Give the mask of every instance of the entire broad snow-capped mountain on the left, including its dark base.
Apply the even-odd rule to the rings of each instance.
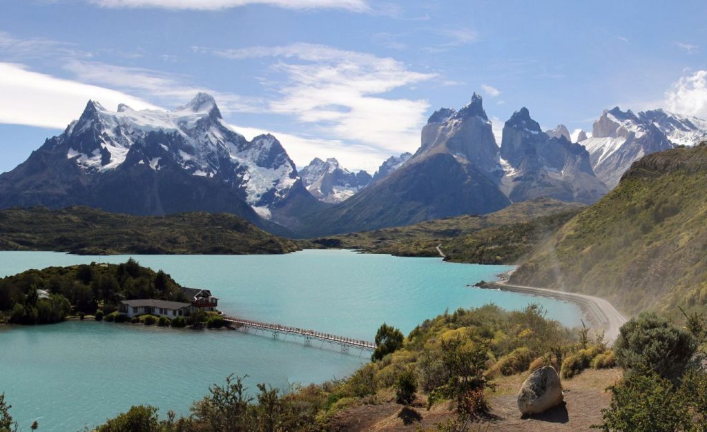
[[[317,202],[274,136],[248,141],[199,93],[173,111],[89,101],[63,134],[0,175],[0,207],[83,204],[130,214],[229,211],[259,223]]]

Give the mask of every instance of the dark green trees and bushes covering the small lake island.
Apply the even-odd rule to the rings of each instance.
[[[38,298],[37,289],[49,298]],[[33,269],[0,279],[0,311],[9,311],[11,322],[18,324],[59,322],[72,310],[95,313],[98,321],[124,322],[127,317],[117,313],[117,305],[134,298],[186,300],[168,274],[141,267],[134,259]]]

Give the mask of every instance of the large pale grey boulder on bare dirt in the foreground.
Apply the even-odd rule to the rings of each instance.
[[[557,371],[552,366],[536,369],[525,380],[518,393],[520,414],[540,414],[561,404],[562,385]]]

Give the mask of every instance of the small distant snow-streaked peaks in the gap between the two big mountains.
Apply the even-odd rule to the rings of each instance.
[[[314,158],[300,170],[300,177],[313,197],[323,202],[339,203],[368,186],[372,177],[366,171],[351,173],[335,158]]]

